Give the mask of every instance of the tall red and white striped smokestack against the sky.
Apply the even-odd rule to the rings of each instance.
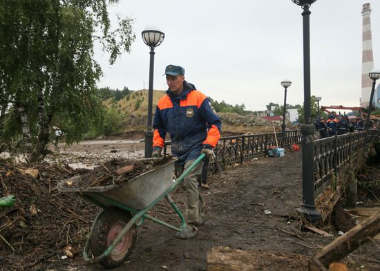
[[[361,102],[360,105],[367,107],[370,102],[372,80],[368,73],[373,69],[372,33],[371,33],[371,7],[370,3],[363,5],[363,45],[361,61]]]

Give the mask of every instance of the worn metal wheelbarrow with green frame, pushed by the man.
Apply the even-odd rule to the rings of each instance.
[[[145,219],[178,232],[184,230],[186,227],[184,216],[171,200],[169,193],[182,183],[203,158],[205,158],[205,154],[201,154],[189,169],[176,179],[173,179],[175,163],[173,158],[167,164],[146,171],[122,185],[75,187],[75,185],[67,186],[68,180],[59,183],[57,185],[59,191],[77,193],[82,198],[102,207],[86,241],[83,251],[84,260],[88,263],[100,263],[106,268],[122,265],[131,255],[137,237],[136,229],[144,223]],[[157,158],[151,160],[157,160]],[[69,180],[75,184],[79,178],[80,176],[75,176]],[[175,227],[146,214],[162,198],[166,198],[180,216],[180,227]]]

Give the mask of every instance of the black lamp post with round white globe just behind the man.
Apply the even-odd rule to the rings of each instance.
[[[158,28],[146,27],[141,32],[142,40],[151,48],[151,58],[149,63],[149,91],[148,91],[148,122],[145,131],[145,158],[151,158],[153,152],[153,131],[152,131],[152,107],[153,107],[153,72],[154,72],[154,48],[162,44],[165,34]]]

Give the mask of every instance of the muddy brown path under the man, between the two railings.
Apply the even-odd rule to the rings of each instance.
[[[314,248],[332,241],[299,232],[300,223],[292,220],[294,208],[301,203],[301,152],[289,153],[285,158],[260,158],[234,167],[222,177],[213,175],[209,183],[211,189],[202,190],[208,206],[207,222],[196,238],[175,239],[172,230],[146,221],[137,230],[131,261],[115,270],[205,270],[207,252],[215,246],[311,255],[316,252]],[[182,189],[171,196],[184,209]],[[265,210],[271,214],[265,214]],[[164,202],[151,214],[179,222]],[[298,234],[307,242],[286,232]],[[271,259],[267,263],[270,265]],[[305,269],[303,264],[301,270]],[[298,261],[283,266],[283,270],[297,268]],[[97,265],[91,270],[102,268]]]

